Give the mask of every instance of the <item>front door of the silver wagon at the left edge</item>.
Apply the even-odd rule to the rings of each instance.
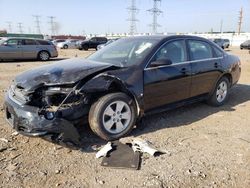
[[[6,45],[0,46],[0,59],[20,59],[22,58],[20,39],[9,39]]]

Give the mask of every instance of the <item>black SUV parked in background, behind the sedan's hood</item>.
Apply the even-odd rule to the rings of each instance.
[[[82,41],[79,44],[78,49],[79,50],[88,50],[90,48],[94,48],[97,50],[98,45],[105,44],[107,41],[108,41],[108,39],[106,37],[93,37],[89,40]]]

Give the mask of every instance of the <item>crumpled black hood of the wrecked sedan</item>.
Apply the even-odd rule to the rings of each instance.
[[[112,64],[74,58],[26,71],[15,78],[15,83],[26,91],[33,91],[43,85],[73,84],[112,66]]]

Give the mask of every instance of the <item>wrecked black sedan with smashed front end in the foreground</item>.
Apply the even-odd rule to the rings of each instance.
[[[114,140],[144,115],[201,100],[223,105],[240,73],[238,57],[204,38],[124,38],[87,59],[18,75],[6,94],[6,119],[29,136],[67,134],[88,120],[94,133]]]

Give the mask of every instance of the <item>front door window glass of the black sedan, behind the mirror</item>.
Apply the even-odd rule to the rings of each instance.
[[[153,61],[169,59],[172,63],[187,61],[186,47],[184,40],[174,41],[164,45],[154,56]]]

